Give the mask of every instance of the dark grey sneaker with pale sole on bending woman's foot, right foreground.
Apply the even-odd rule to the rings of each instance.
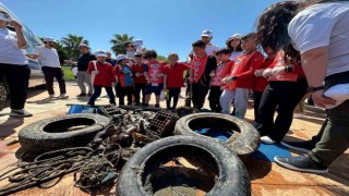
[[[279,166],[294,171],[310,173],[328,173],[327,167],[318,164],[306,155],[300,155],[297,157],[274,157],[274,160]]]

